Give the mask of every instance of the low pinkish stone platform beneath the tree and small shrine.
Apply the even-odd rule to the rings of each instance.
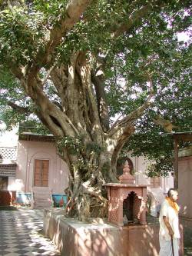
[[[158,224],[118,227],[65,218],[61,209],[45,209],[44,231],[61,255],[157,256]]]

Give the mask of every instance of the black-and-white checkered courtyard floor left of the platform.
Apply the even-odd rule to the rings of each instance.
[[[0,255],[60,255],[42,228],[41,210],[0,211]]]

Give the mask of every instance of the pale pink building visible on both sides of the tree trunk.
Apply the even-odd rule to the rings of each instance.
[[[23,128],[19,136],[17,128],[4,131],[0,137],[0,182],[3,184],[2,188],[0,184],[0,190],[17,191],[23,198],[31,194],[32,207],[36,208],[51,206],[51,194],[65,194],[68,167],[58,157],[53,141],[52,135],[38,135],[31,128]],[[147,193],[151,197],[151,214],[156,216],[164,193],[173,187],[173,177],[147,178],[147,159],[131,157],[131,154],[127,154],[127,159],[134,169],[136,184],[147,185]],[[28,200],[30,198],[25,201]]]

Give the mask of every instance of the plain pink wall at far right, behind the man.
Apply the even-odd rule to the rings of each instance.
[[[192,219],[192,156],[179,158],[178,182],[180,215]]]

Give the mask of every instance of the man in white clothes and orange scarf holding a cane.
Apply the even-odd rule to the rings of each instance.
[[[174,188],[170,188],[170,190],[167,192],[167,197],[161,205],[161,211],[159,216],[159,256],[179,255],[180,232],[178,218],[179,207],[176,203],[177,199],[177,190],[175,190]],[[173,244],[171,240],[173,241]]]

